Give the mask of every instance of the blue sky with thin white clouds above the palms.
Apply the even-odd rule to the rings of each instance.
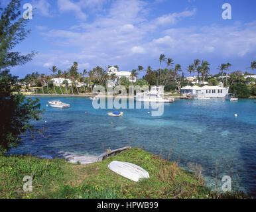
[[[8,2],[0,0],[1,7]],[[180,64],[185,76],[197,58],[210,63],[211,74],[227,62],[231,71],[250,71],[256,60],[254,0],[25,0],[22,12],[25,3],[34,9],[31,33],[13,50],[38,54],[11,68],[21,78],[50,74],[54,65],[64,71],[75,61],[80,72],[109,65],[157,70],[160,54]],[[224,3],[231,5],[231,19],[222,18]]]

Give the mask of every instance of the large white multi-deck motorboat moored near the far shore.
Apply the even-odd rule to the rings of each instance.
[[[159,93],[156,93],[156,92],[138,93],[135,96],[135,98],[136,98],[136,101],[163,102],[163,103],[174,102],[174,98],[164,97],[163,94],[159,94]]]

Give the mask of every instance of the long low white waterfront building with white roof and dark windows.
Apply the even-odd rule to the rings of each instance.
[[[203,87],[199,86],[185,86],[180,89],[180,93],[193,97],[196,95],[204,95],[204,97],[218,98],[225,97],[228,93],[228,87],[220,87],[220,86],[208,86],[204,85]]]

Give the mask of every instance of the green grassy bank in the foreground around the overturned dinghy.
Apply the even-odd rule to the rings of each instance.
[[[112,160],[137,164],[150,178],[136,183],[107,168]],[[24,176],[32,176],[33,189],[23,191]],[[145,152],[131,148],[94,164],[70,164],[62,159],[32,156],[0,156],[1,198],[215,198],[204,180],[191,172]],[[227,193],[219,197],[243,197]]]

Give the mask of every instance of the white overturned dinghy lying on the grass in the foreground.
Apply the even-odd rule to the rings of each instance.
[[[135,182],[139,182],[143,178],[149,178],[149,172],[129,162],[113,160],[107,167],[109,170]]]

